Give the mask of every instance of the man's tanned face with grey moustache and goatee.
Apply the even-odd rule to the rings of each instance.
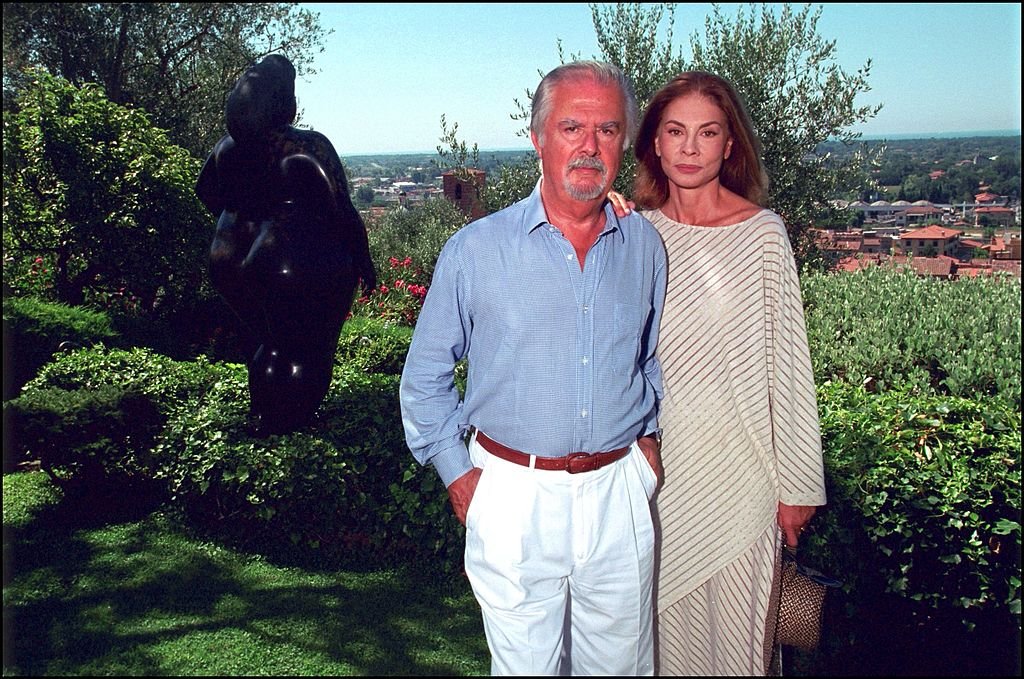
[[[626,107],[614,85],[591,78],[555,86],[542,138],[530,135],[545,179],[556,196],[604,198],[618,174],[626,138]]]

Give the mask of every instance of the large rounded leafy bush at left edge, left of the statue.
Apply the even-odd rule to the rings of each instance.
[[[31,292],[71,305],[195,300],[210,236],[198,165],[100,86],[36,72],[3,114],[4,294],[35,274],[46,285]]]

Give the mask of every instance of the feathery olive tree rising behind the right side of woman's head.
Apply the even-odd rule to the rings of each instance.
[[[866,183],[865,169],[878,155],[863,146],[843,161],[819,145],[829,139],[854,144],[852,126],[873,118],[881,104],[857,105],[870,91],[871,60],[850,74],[836,63],[836,41],[818,35],[821,8],[740,7],[734,18],[715,5],[701,39],[693,34],[688,69],[728,79],[745,99],[764,146],[770,180],[768,206],[790,228],[798,253],[816,219],[834,221],[829,200]]]

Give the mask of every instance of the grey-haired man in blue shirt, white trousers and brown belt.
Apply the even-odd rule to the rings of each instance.
[[[410,449],[466,525],[493,674],[652,674],[666,255],[605,204],[636,121],[611,65],[544,78],[542,179],[445,244],[402,374]]]

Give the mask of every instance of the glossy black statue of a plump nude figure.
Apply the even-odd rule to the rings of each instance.
[[[271,54],[251,67],[196,185],[217,217],[210,279],[258,345],[248,368],[260,435],[311,419],[355,287],[377,285],[341,159],[323,134],[293,127],[295,114],[291,61]]]

